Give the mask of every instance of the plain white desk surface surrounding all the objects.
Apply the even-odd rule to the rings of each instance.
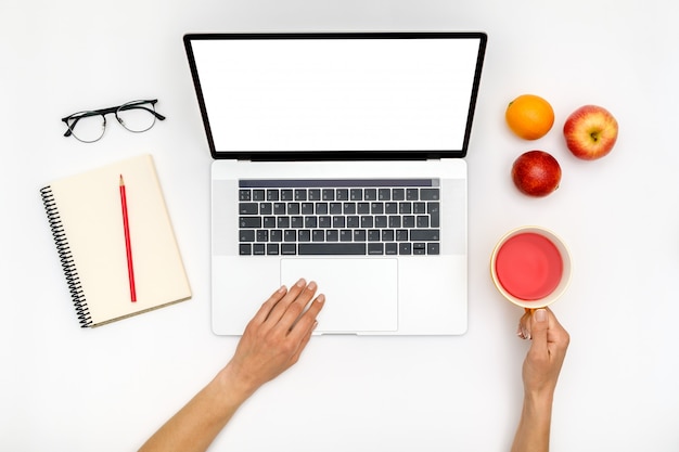
[[[209,328],[208,155],[182,35],[229,30],[485,30],[488,50],[466,158],[470,319],[461,337],[315,337],[257,392],[215,451],[507,451],[521,409],[521,309],[488,274],[509,229],[558,232],[575,261],[554,312],[572,344],[552,451],[679,449],[679,7],[670,1],[249,0],[0,5],[0,449],[129,451],[231,357]],[[514,138],[504,108],[547,98],[543,139]],[[97,144],[60,118],[157,96],[143,134],[112,122]],[[620,124],[602,160],[580,162],[561,127],[594,103]],[[560,160],[562,185],[528,198],[509,171],[524,151]],[[38,190],[151,152],[194,296],[97,330],[76,323]]]

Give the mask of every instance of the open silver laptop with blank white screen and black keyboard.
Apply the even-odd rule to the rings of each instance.
[[[212,164],[212,328],[316,281],[316,334],[467,328],[483,33],[189,34]]]

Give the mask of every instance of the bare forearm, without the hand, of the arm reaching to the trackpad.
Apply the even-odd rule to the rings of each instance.
[[[235,388],[221,371],[146,441],[140,452],[205,451],[252,391]]]

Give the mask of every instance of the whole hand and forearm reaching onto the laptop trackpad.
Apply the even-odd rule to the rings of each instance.
[[[241,404],[261,385],[299,359],[324,296],[304,279],[276,290],[249,321],[235,354],[184,408],[146,441],[140,452],[204,452]],[[308,309],[305,308],[309,305]]]

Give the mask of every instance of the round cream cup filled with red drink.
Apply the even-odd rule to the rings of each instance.
[[[497,289],[526,309],[556,301],[571,282],[571,255],[563,241],[539,227],[522,227],[504,234],[490,258]]]

